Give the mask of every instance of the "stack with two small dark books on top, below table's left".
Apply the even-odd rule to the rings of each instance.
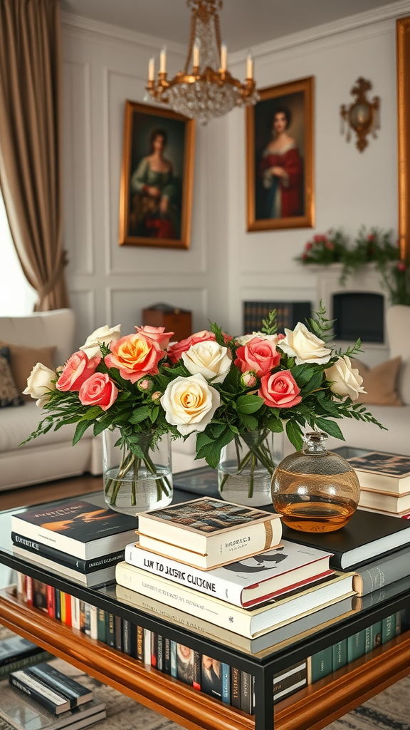
[[[0,695],[0,718],[17,730],[80,730],[107,714],[92,691],[47,662],[12,672]]]

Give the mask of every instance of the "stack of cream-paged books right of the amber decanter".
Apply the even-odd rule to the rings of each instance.
[[[410,456],[371,451],[348,461],[360,483],[360,509],[410,518]]]

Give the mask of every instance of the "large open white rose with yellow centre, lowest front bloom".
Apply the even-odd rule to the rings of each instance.
[[[204,431],[220,405],[220,394],[203,375],[176,377],[160,399],[165,418],[182,436]]]

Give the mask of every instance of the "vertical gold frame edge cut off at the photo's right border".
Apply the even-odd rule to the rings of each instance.
[[[410,16],[396,20],[398,89],[398,235],[410,256]]]

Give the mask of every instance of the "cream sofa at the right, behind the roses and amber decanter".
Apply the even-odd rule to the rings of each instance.
[[[369,404],[367,410],[388,430],[382,431],[373,423],[363,423],[352,418],[338,421],[344,441],[329,438],[329,449],[344,445],[356,448],[387,451],[410,456],[410,307],[390,307],[386,314],[387,337],[390,358],[401,356],[401,372],[398,377],[398,396],[403,406],[376,406]],[[360,356],[359,356],[360,357]],[[285,455],[294,451],[285,437]],[[172,464],[174,472],[204,466],[204,460],[195,461],[195,436],[187,441],[174,442]]]

